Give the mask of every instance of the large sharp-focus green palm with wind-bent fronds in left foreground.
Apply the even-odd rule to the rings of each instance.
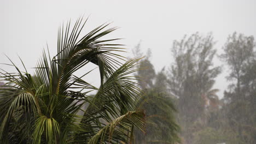
[[[69,21],[59,29],[57,55],[44,51],[33,75],[22,61],[25,72],[11,60],[17,72],[1,72],[7,82],[0,87],[2,143],[128,143],[135,127],[144,131],[145,114],[134,105],[140,90],[130,76],[139,59],[120,62],[117,39],[100,40],[116,29],[104,30],[108,25],[78,40],[86,21],[78,19],[73,28]],[[82,79],[88,73],[74,75],[89,63],[98,65],[99,88]]]

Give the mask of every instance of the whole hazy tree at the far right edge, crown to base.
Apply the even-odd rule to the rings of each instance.
[[[234,32],[223,47],[220,56],[230,69],[227,77],[232,89],[224,93],[228,124],[236,137],[244,143],[255,143],[255,72],[256,50],[253,36]],[[235,80],[235,81],[234,81]]]

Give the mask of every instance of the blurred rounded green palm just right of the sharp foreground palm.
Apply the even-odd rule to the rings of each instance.
[[[181,143],[171,95],[156,87],[143,90],[144,94],[137,101],[137,107],[146,110],[147,135],[143,136],[136,131],[137,143]]]

